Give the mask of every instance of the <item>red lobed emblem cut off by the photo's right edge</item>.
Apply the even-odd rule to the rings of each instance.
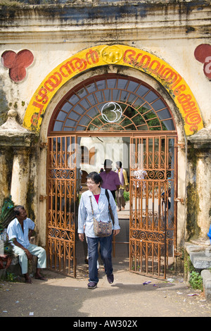
[[[204,63],[204,73],[209,80],[211,80],[211,45],[210,44],[200,44],[196,47],[194,51],[194,56],[196,60]]]

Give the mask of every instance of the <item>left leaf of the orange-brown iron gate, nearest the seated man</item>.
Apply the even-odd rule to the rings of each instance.
[[[47,187],[48,268],[76,276],[76,155],[75,136],[49,137]]]

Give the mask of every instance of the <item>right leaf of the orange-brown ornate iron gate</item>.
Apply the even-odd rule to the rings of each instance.
[[[174,263],[176,144],[175,136],[131,138],[129,268],[135,273],[165,278]]]

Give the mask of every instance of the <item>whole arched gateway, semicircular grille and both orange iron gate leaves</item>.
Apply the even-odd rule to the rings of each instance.
[[[177,132],[160,94],[133,77],[92,77],[60,101],[48,139],[49,268],[76,276],[79,194],[86,174],[110,158],[113,170],[122,162],[129,180],[129,213],[119,213],[125,236],[115,238],[115,258],[126,247],[131,272],[165,278],[177,244]]]

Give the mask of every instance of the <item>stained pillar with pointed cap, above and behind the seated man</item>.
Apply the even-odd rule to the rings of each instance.
[[[8,111],[6,123],[0,127],[0,150],[12,151],[7,160],[9,165],[9,175],[4,173],[6,168],[6,154],[0,155],[0,166],[3,171],[0,175],[2,199],[8,196],[8,187],[11,185],[11,196],[15,204],[26,204],[27,184],[30,176],[30,148],[34,134],[26,130],[17,122],[17,112],[11,109]],[[14,155],[13,155],[14,154]],[[13,162],[13,165],[12,165]],[[8,167],[8,165],[7,165]]]

